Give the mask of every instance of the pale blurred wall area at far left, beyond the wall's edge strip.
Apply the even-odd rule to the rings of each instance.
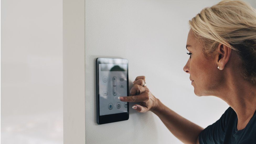
[[[1,143],[63,143],[62,1],[1,0]]]

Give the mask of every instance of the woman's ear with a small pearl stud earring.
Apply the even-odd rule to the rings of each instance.
[[[216,50],[216,64],[219,67],[220,70],[223,70],[226,63],[228,62],[231,54],[231,48],[224,45],[224,44],[218,44],[217,50]]]

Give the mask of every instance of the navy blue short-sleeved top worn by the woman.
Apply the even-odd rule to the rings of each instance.
[[[219,120],[200,132],[199,143],[256,144],[256,110],[246,127],[237,130],[236,112],[229,107]]]

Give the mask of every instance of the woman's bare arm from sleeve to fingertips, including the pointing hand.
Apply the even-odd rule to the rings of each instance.
[[[141,102],[141,105],[132,106],[137,112],[145,113],[152,111],[164,123],[164,125],[184,143],[199,143],[198,136],[203,130],[202,127],[183,118],[154,97],[145,84],[145,76],[136,77],[133,87],[130,90],[132,96],[118,97],[123,102]]]

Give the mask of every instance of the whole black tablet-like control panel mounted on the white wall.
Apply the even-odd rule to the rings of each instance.
[[[97,122],[129,119],[129,103],[118,99],[129,96],[128,60],[121,58],[97,59]]]

